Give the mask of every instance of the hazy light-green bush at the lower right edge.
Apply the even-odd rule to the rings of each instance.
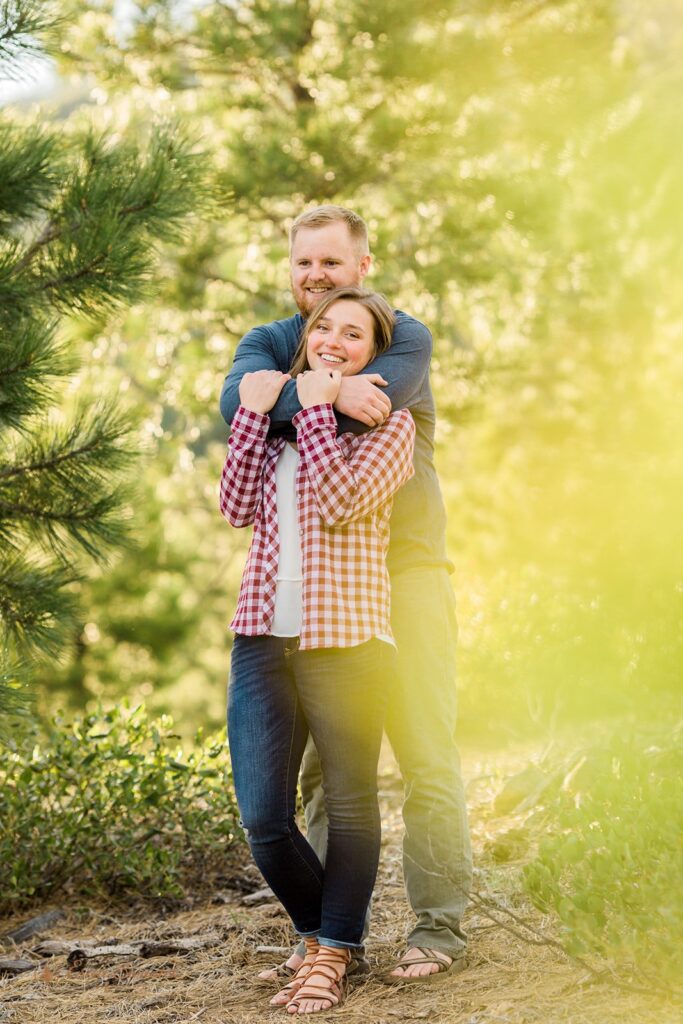
[[[566,948],[651,978],[683,977],[680,733],[622,736],[587,753],[548,811],[550,831],[523,880],[535,903],[559,915]]]

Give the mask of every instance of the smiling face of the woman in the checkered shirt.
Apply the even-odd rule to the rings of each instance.
[[[306,358],[311,370],[357,374],[375,352],[373,314],[353,299],[333,303],[308,335]]]

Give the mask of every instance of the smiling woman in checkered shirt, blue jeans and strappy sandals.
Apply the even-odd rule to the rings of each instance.
[[[244,827],[266,882],[306,944],[271,1002],[290,1013],[338,1005],[359,948],[377,873],[377,762],[388,662],[384,564],[391,502],[412,475],[415,427],[392,414],[337,437],[341,378],[391,341],[381,296],[330,292],[311,313],[290,374],[246,374],[223,468],[220,507],[254,524],[242,580],[228,699],[232,772]],[[268,411],[296,377],[295,446],[268,439]],[[310,731],[323,768],[329,842],[323,868],[295,822]]]

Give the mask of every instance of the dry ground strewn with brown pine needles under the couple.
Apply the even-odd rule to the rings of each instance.
[[[515,864],[497,866],[487,850],[509,825],[492,814],[492,796],[501,779],[523,764],[508,756],[496,760],[467,757],[469,800],[479,890],[494,892],[550,935],[552,923],[525,904],[516,892]],[[465,927],[470,938],[468,969],[438,986],[396,989],[377,974],[391,965],[410,929],[400,873],[399,785],[388,765],[382,773],[384,846],[376,890],[369,955],[376,970],[370,981],[352,989],[338,1010],[321,1021],[393,1024],[430,1020],[443,1024],[675,1024],[680,1020],[665,1000],[592,984],[586,972],[552,949],[528,945],[493,926],[476,909]],[[236,892],[230,903],[210,900],[172,916],[141,921],[116,911],[102,918],[74,911],[49,938],[119,942],[177,938],[216,931],[219,944],[184,956],[105,957],[70,971],[66,957],[44,962],[37,971],[0,981],[2,1024],[256,1024],[289,1019],[267,1005],[273,990],[255,980],[272,954],[257,946],[287,946],[291,932],[275,903],[246,907]],[[9,927],[9,924],[7,925]],[[5,930],[3,925],[2,931]],[[43,936],[46,938],[48,936]],[[16,955],[31,955],[30,940]],[[5,953],[6,955],[6,953]],[[274,957],[275,959],[278,957]]]

